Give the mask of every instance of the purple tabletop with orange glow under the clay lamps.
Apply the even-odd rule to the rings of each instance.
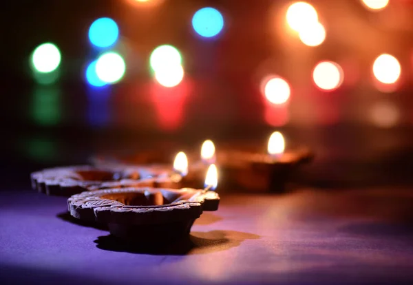
[[[413,284],[412,206],[394,189],[224,196],[187,253],[131,251],[67,220],[65,198],[7,191],[0,283]]]

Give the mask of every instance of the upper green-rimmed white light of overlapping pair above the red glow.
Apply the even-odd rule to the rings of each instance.
[[[179,66],[182,64],[182,56],[176,47],[160,45],[151,53],[149,64],[155,71],[165,67]]]

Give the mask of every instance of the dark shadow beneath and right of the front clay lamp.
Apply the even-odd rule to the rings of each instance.
[[[105,251],[120,251],[127,253],[141,253],[152,255],[192,255],[225,251],[239,246],[244,240],[255,240],[260,235],[242,233],[240,231],[209,231],[192,232],[187,238],[178,242],[167,243],[164,241],[134,243],[120,240],[114,235],[98,237],[94,242],[98,249]]]

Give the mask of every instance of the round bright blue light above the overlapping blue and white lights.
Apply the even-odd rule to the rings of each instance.
[[[96,47],[110,47],[118,40],[119,28],[110,18],[97,19],[90,25],[89,41]]]

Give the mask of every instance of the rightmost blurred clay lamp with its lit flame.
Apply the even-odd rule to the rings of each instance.
[[[285,149],[284,137],[275,131],[268,140],[268,153],[226,151],[217,153],[222,180],[230,187],[256,191],[284,192],[291,173],[310,162],[313,154],[306,147]]]

